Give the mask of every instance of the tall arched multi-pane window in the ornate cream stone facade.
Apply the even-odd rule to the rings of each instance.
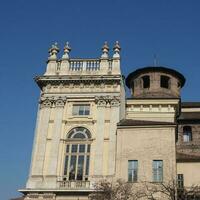
[[[84,127],[68,133],[65,151],[64,180],[88,180],[91,134]]]

